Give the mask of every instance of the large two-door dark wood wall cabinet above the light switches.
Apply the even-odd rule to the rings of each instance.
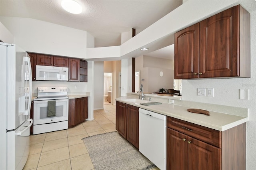
[[[250,77],[250,14],[234,6],[177,32],[174,79]]]

